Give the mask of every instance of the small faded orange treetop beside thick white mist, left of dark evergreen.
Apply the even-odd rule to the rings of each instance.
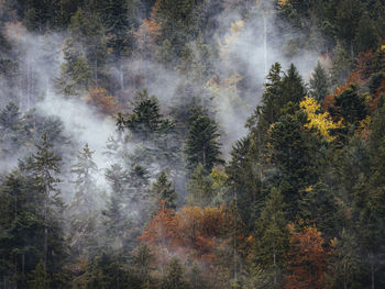
[[[91,88],[85,99],[103,114],[112,114],[118,110],[117,101],[103,88]]]

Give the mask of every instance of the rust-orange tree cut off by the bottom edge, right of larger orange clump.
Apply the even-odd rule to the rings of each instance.
[[[324,274],[329,252],[316,227],[305,227],[296,233],[292,226],[290,251],[288,254],[289,275],[286,289],[326,288]]]

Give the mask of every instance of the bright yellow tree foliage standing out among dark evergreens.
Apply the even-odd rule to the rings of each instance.
[[[336,138],[329,134],[329,131],[342,127],[342,120],[334,123],[329,112],[320,112],[320,104],[311,97],[306,97],[305,100],[299,103],[299,107],[307,112],[309,121],[309,123],[305,125],[307,129],[316,129],[328,142]]]

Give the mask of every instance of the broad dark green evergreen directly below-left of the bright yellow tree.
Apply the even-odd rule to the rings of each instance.
[[[289,220],[298,213],[299,192],[317,180],[318,138],[301,126],[300,114],[286,114],[274,123],[268,136],[268,157],[277,169],[272,171],[271,181],[284,194]]]

